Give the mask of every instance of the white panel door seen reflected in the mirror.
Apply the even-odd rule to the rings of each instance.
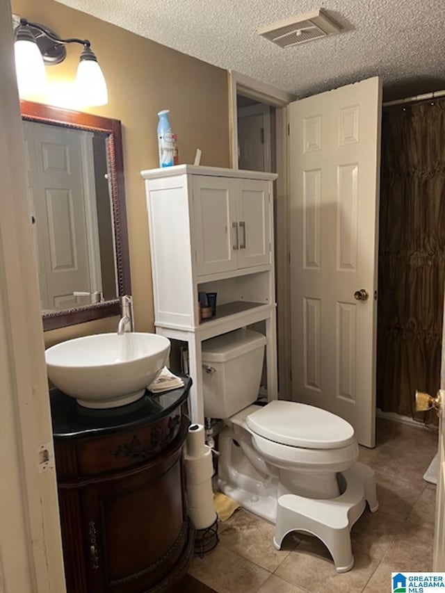
[[[29,181],[38,236],[41,296],[46,300],[42,307],[72,307],[79,303],[74,291],[92,292],[81,133],[30,122],[24,122],[24,129],[29,143],[32,138],[35,157],[30,162]]]

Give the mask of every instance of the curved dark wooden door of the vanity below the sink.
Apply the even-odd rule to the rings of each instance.
[[[177,568],[188,538],[181,479],[175,455],[156,470],[83,490],[91,592],[145,592]]]

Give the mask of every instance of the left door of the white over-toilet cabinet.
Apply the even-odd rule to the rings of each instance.
[[[198,276],[236,270],[239,250],[234,179],[193,177]]]

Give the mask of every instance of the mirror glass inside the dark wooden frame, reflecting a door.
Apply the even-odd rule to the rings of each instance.
[[[23,125],[42,311],[89,304],[94,293],[115,298],[104,135]]]

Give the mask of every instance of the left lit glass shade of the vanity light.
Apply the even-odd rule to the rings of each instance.
[[[20,99],[42,95],[46,88],[47,73],[37,44],[30,40],[17,40],[14,52]]]

